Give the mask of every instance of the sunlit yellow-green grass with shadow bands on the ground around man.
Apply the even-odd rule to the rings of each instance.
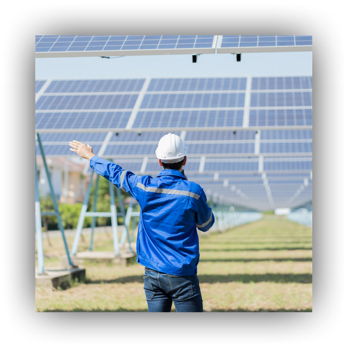
[[[44,240],[45,265],[59,266],[62,241],[51,242]],[[79,250],[88,245],[85,236]],[[95,246],[112,250],[111,235],[96,233]],[[66,290],[35,289],[35,311],[148,311],[143,266],[86,263],[85,268],[85,283]],[[312,229],[265,215],[226,232],[202,233],[198,277],[205,312],[312,312]]]

